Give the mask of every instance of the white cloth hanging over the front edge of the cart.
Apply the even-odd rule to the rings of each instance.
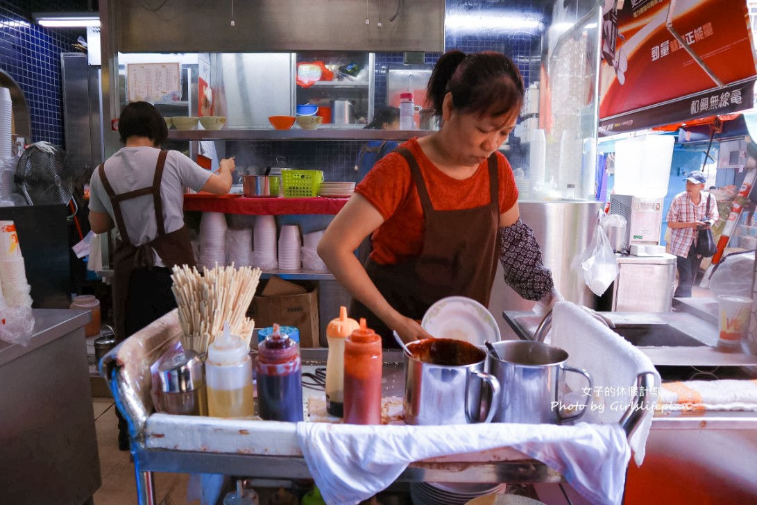
[[[350,505],[387,488],[410,463],[512,447],[561,472],[592,503],[621,503],[631,451],[617,424],[359,426],[298,422],[310,474],[326,503]]]

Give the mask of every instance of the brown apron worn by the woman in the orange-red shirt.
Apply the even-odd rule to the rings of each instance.
[[[421,320],[428,307],[447,296],[466,296],[488,306],[500,248],[496,153],[488,160],[490,204],[434,210],[413,154],[407,148],[395,152],[407,160],[418,190],[425,223],[422,251],[418,257],[391,265],[369,258],[365,264],[369,278],[391,307],[414,320]],[[396,347],[391,329],[360,301],[353,299],[350,317],[365,317],[368,327],[382,335],[386,347]]]

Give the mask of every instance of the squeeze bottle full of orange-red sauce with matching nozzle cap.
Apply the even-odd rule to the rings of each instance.
[[[381,337],[360,318],[344,339],[344,422],[381,424]]]

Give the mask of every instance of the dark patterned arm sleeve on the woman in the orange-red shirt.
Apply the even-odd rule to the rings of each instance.
[[[500,228],[500,263],[507,285],[526,300],[540,300],[554,287],[534,232],[520,218],[512,226]]]

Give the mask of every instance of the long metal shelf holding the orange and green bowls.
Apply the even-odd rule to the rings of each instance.
[[[422,137],[430,130],[364,129],[321,126],[319,129],[273,129],[273,126],[228,126],[223,129],[170,129],[173,140],[407,140]]]

